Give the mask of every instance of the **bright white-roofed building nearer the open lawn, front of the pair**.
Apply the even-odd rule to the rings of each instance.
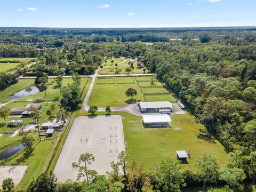
[[[165,127],[165,126],[171,126],[171,118],[167,114],[161,114],[161,115],[142,115],[142,122],[143,124],[147,126],[153,126],[153,127]]]

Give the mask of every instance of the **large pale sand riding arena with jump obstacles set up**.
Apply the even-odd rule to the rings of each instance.
[[[79,116],[74,119],[53,172],[60,182],[76,180],[78,172],[73,170],[72,163],[78,162],[81,154],[90,153],[95,160],[89,169],[106,174],[111,171],[110,163],[117,162],[117,155],[123,150],[121,116]]]

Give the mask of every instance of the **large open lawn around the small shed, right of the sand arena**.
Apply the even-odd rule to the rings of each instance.
[[[148,171],[163,159],[176,159],[177,150],[188,152],[190,149],[191,159],[188,158],[187,164],[182,164],[184,169],[195,171],[195,160],[203,153],[217,157],[223,169],[227,163],[227,154],[218,140],[206,135],[204,127],[196,124],[195,118],[189,114],[173,115],[171,119],[171,128],[145,129],[141,116],[124,114],[124,136],[130,164],[133,159],[137,159],[143,163],[143,170]]]

